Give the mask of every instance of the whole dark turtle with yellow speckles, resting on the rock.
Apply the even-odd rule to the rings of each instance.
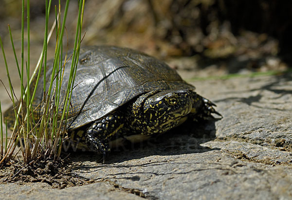
[[[68,60],[64,68],[60,102],[65,98],[71,63],[72,59]],[[52,69],[52,65],[47,69],[46,88]],[[43,94],[43,86],[38,84],[32,102],[36,118],[40,117]],[[77,149],[102,154],[103,162],[113,141],[146,140],[187,118],[198,121],[213,119],[213,113],[221,116],[214,103],[197,94],[195,87],[166,63],[116,46],[80,49],[70,105],[67,139]]]

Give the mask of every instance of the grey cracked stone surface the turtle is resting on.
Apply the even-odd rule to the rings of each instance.
[[[183,76],[183,71],[180,72]],[[291,199],[292,73],[189,81],[223,119],[184,124],[105,164],[71,157],[82,186],[2,183],[4,199]]]

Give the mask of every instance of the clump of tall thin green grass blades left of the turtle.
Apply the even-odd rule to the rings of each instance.
[[[31,77],[30,74],[30,2],[27,0],[27,58],[24,55],[24,11],[25,4],[22,0],[22,21],[21,21],[21,64],[18,64],[17,54],[14,48],[13,37],[10,26],[8,25],[9,34],[11,38],[11,44],[16,59],[16,66],[20,78],[21,96],[19,101],[17,100],[13,86],[11,83],[9,68],[6,62],[6,56],[3,49],[3,44],[0,37],[0,46],[2,49],[7,78],[9,82],[10,92],[7,91],[13,104],[13,111],[15,116],[15,123],[11,137],[7,137],[7,119],[4,124],[6,126],[6,133],[3,135],[3,119],[0,102],[0,166],[9,162],[15,155],[15,149],[17,144],[20,145],[20,150],[23,155],[24,164],[31,164],[37,160],[60,158],[61,146],[64,137],[64,131],[66,129],[66,121],[68,117],[69,105],[71,100],[71,94],[74,87],[74,79],[77,67],[77,61],[79,57],[79,50],[81,45],[81,30],[85,0],[79,1],[78,20],[76,24],[75,42],[73,48],[73,55],[68,55],[63,52],[63,36],[65,32],[65,22],[67,18],[67,12],[69,7],[69,0],[66,0],[63,20],[61,21],[61,5],[59,0],[58,9],[55,6],[55,23],[48,33],[49,14],[51,9],[52,0],[46,1],[46,16],[45,16],[45,31],[43,50],[40,58],[37,62],[37,66]],[[58,10],[58,11],[57,11]],[[54,28],[55,27],[55,28]],[[48,42],[52,35],[52,31],[55,30],[55,55],[52,67],[51,77],[46,77],[47,72],[47,48]],[[62,71],[65,67],[67,57],[72,57],[71,73],[66,91],[66,96],[60,98],[60,89],[62,86],[63,74]],[[24,62],[25,61],[25,62]],[[43,83],[39,83],[41,75],[43,75]],[[24,75],[26,75],[27,86],[24,87]],[[47,82],[49,87],[47,88]],[[33,106],[34,99],[37,94],[38,84],[43,84],[43,100],[37,107]],[[62,86],[64,87],[64,86]],[[64,102],[60,102],[60,99],[65,99]],[[36,114],[36,110],[41,110],[41,115]],[[62,111],[61,116],[58,114]],[[8,110],[9,112],[9,110]],[[12,117],[11,113],[8,117]],[[9,119],[11,120],[11,119]],[[6,136],[5,136],[6,135]],[[7,140],[8,139],[8,140]],[[4,143],[5,140],[5,143]],[[5,147],[4,147],[5,146]]]

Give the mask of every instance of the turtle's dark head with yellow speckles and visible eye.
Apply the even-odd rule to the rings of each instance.
[[[166,90],[148,96],[141,110],[143,133],[166,132],[177,126],[191,109],[192,92],[189,90]]]

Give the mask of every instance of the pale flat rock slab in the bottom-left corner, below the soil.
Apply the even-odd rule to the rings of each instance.
[[[117,190],[112,184],[107,182],[96,182],[82,187],[69,187],[62,190],[49,189],[46,183],[23,184],[17,183],[1,184],[0,185],[1,199],[58,199],[58,200],[140,200],[134,194]]]

